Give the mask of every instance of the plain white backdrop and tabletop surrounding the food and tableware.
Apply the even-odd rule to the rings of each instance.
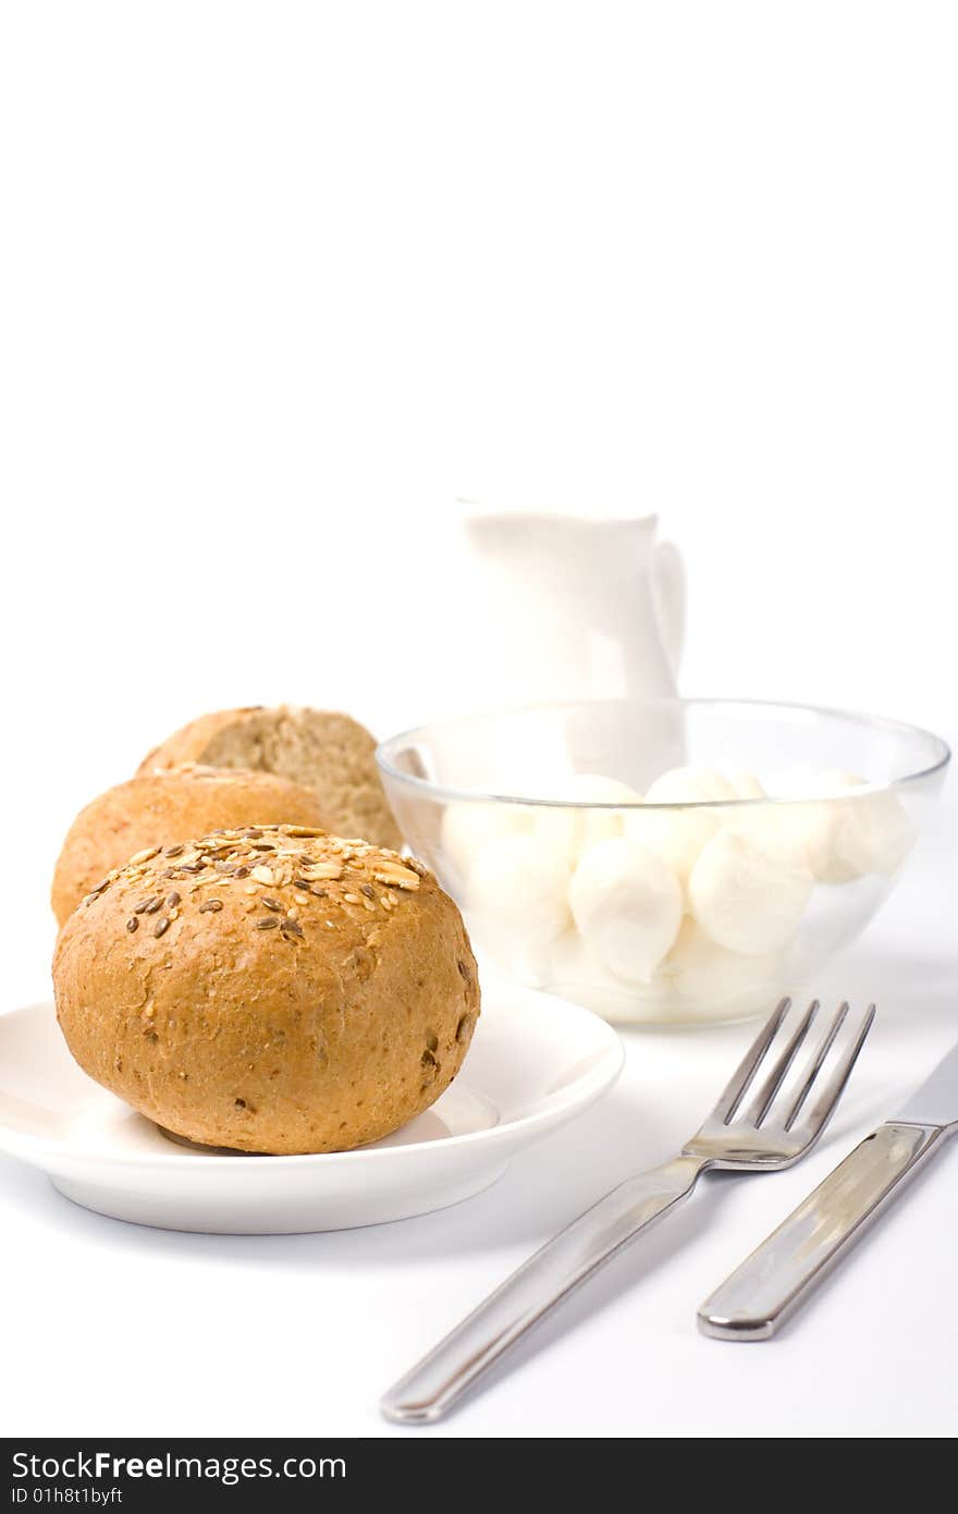
[[[955,736],[956,44],[920,0],[3,8],[5,1001],[45,992],[74,812],[171,727],[288,698],[386,733],[468,678],[457,494],[658,510],[684,692]],[[953,816],[835,969],[890,1007],[831,1143],[702,1201],[678,1261],[663,1229],[451,1434],[944,1428],[953,1155],[773,1349],[692,1311],[947,1046]],[[492,1193],[380,1232],[151,1234],[3,1163],[0,1422],[377,1434],[740,1040],[637,1040]]]

